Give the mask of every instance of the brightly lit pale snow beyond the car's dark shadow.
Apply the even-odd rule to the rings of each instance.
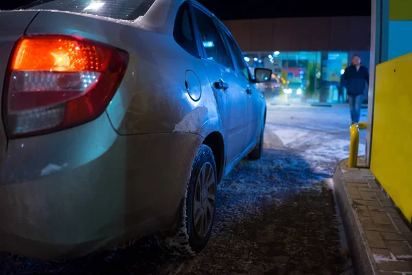
[[[367,110],[362,109],[361,122]],[[348,157],[350,115],[347,108],[270,107],[265,145],[299,153],[317,172],[331,173],[330,165]],[[359,155],[365,155],[366,131],[360,132]]]

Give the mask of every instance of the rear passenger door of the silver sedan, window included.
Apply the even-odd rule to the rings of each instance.
[[[203,47],[203,64],[209,75],[227,140],[227,165],[244,151],[247,125],[247,94],[239,85],[227,46],[207,10],[194,3],[196,28]]]

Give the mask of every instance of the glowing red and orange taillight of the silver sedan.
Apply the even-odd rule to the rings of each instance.
[[[17,43],[5,93],[10,137],[58,131],[98,118],[122,81],[128,54],[71,36]]]

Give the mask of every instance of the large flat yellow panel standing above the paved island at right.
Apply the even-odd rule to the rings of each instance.
[[[411,222],[412,54],[376,67],[371,170]]]

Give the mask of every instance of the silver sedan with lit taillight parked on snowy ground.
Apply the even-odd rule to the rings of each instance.
[[[35,1],[0,12],[0,49],[0,251],[205,248],[216,185],[262,156],[271,70],[187,0]]]

